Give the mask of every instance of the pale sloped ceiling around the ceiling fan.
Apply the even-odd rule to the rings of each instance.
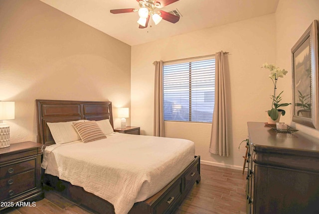
[[[139,29],[137,12],[112,14],[110,9],[139,8],[137,0],[41,0],[129,45],[274,13],[279,0],[179,0],[162,8],[178,9],[175,24],[162,20]]]

